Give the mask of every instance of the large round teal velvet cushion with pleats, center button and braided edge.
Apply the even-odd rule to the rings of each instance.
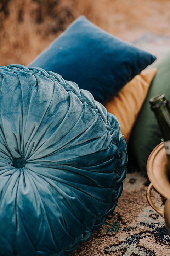
[[[62,256],[113,213],[127,153],[117,119],[60,75],[0,67],[0,255]]]

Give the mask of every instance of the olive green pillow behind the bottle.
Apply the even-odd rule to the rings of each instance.
[[[129,154],[135,158],[141,171],[146,172],[149,154],[161,142],[161,135],[157,121],[150,110],[149,99],[153,96],[165,94],[170,101],[170,51],[159,59],[152,67],[158,69],[145,102],[132,129],[128,143]]]

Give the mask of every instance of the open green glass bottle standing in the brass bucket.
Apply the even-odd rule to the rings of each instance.
[[[151,110],[154,112],[160,129],[162,140],[168,157],[168,178],[170,181],[170,108],[165,95],[159,95],[150,99]]]

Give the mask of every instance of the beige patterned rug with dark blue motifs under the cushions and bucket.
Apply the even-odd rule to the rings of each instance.
[[[170,50],[170,37],[146,34],[132,42],[136,47],[161,58]],[[128,168],[129,169],[129,168]],[[83,242],[70,256],[169,256],[170,235],[164,219],[148,204],[148,178],[140,172],[129,173],[114,213],[100,230]],[[130,173],[131,172],[131,173]],[[156,206],[164,208],[165,198],[154,189]]]

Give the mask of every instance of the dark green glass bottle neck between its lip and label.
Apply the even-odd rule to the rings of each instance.
[[[152,108],[164,141],[170,140],[170,108],[167,104]]]

